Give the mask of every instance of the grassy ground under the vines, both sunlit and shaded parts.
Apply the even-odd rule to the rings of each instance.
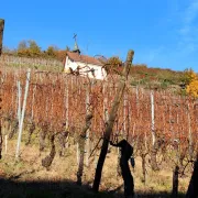
[[[24,135],[25,136],[25,135]],[[85,166],[82,186],[76,185],[76,145],[70,145],[64,157],[55,156],[50,170],[41,166],[41,161],[48,154],[46,147],[43,153],[38,152],[37,136],[31,145],[25,145],[23,139],[20,160],[14,160],[15,140],[8,141],[8,153],[2,153],[0,161],[0,197],[123,197],[123,180],[117,175],[117,151],[111,148],[108,153],[100,193],[90,190],[95,164]],[[91,158],[92,160],[92,158]],[[163,165],[162,170],[154,173],[147,167],[146,183],[142,182],[141,160],[135,161],[135,168],[131,169],[134,177],[135,193],[138,197],[169,197],[172,190],[172,169]],[[189,183],[189,176],[179,179],[179,197],[184,197]]]

